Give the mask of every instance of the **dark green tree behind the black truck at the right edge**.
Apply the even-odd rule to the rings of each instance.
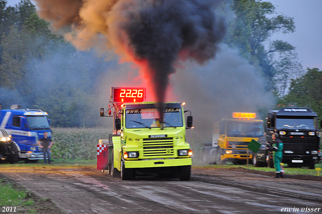
[[[285,105],[308,107],[322,114],[322,71],[307,68],[307,73],[292,80],[289,93],[282,100]]]

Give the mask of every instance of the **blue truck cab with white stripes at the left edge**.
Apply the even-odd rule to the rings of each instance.
[[[20,160],[36,163],[43,159],[38,140],[45,131],[51,137],[47,116],[42,110],[22,109],[22,105],[12,105],[11,109],[0,111],[0,127],[6,129],[17,143]]]

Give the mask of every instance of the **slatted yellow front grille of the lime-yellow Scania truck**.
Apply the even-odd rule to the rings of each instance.
[[[173,156],[173,138],[143,138],[143,156]]]

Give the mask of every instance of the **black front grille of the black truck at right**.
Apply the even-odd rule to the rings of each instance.
[[[307,155],[306,152],[317,151],[315,138],[281,138],[283,141],[283,151],[292,151],[296,155]]]

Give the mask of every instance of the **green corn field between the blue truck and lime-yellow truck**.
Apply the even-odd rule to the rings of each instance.
[[[108,139],[112,133],[110,128],[52,128],[51,139],[53,159],[85,159],[97,158],[99,139]]]

